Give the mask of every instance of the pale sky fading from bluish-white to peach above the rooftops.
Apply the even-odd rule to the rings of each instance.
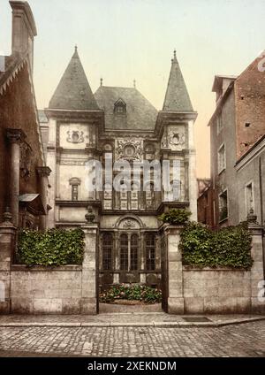
[[[163,106],[177,50],[195,123],[197,175],[209,175],[208,119],[215,74],[239,74],[265,49],[265,0],[28,0],[34,40],[34,88],[47,107],[78,45],[92,90],[133,87]],[[0,55],[11,53],[11,7],[0,0]]]

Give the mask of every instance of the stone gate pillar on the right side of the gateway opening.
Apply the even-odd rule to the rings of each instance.
[[[169,314],[184,313],[183,295],[183,272],[182,255],[179,249],[181,226],[164,226],[164,235],[167,255],[165,256],[166,267],[163,272],[167,272],[163,280],[168,283],[167,312]]]

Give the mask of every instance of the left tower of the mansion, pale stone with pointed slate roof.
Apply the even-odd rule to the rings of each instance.
[[[47,165],[49,227],[67,226],[77,217],[86,222],[87,206],[100,206],[99,196],[86,188],[86,163],[99,158],[98,134],[104,123],[79,59],[77,47],[45,109],[49,119]],[[64,223],[64,224],[62,224]]]

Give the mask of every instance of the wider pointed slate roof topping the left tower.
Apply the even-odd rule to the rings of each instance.
[[[77,48],[75,48],[72,59],[49,101],[49,108],[83,111],[99,109],[80,62]]]

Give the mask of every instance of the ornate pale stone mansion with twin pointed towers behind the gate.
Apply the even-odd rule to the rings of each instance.
[[[106,87],[101,81],[93,95],[76,48],[45,114],[49,135],[44,149],[52,170],[49,227],[81,226],[89,207],[100,223],[100,284],[131,281],[159,285],[161,239],[157,216],[170,207],[187,207],[193,219],[197,218],[193,145],[197,113],[176,53],[171,60],[163,111],[156,111],[137,88]],[[45,134],[43,116],[42,129]],[[178,178],[174,179],[171,166],[170,184],[178,196],[172,200],[170,193],[155,191],[154,172],[148,180],[150,188],[144,191],[140,169],[140,186],[122,181],[121,187],[129,191],[117,192],[105,180],[103,191],[88,191],[87,181],[95,176],[93,168],[89,171],[86,167],[87,160],[101,161],[104,167],[109,160],[112,167],[111,158],[113,163],[127,161],[130,165],[143,160],[177,160]]]

